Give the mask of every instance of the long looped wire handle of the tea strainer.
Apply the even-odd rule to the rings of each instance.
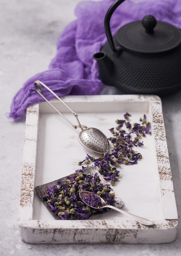
[[[71,124],[74,128],[81,128],[83,130],[83,128],[86,128],[86,126],[82,126],[78,120],[78,115],[76,114],[76,112],[74,112],[62,99],[60,99],[58,97],[58,95],[56,95],[55,92],[53,92],[47,85],[45,85],[44,83],[42,83],[41,81],[39,80],[36,80],[34,82],[34,87],[36,89],[36,91],[38,92],[38,94],[60,115],[62,116],[69,124]],[[74,117],[76,117],[76,120],[78,122],[78,126],[74,125],[71,123],[71,121],[69,121],[69,119],[67,119],[67,117],[65,117],[62,113],[60,113],[60,111],[58,109],[56,109],[50,102],[49,100],[47,100],[47,98],[42,94],[43,93],[43,87],[45,87],[47,90],[49,90],[49,92],[51,92],[55,97],[56,99],[58,99],[61,103],[63,103],[65,105],[65,107],[67,107],[73,114],[74,114]]]

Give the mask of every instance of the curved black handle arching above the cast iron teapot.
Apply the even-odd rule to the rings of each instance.
[[[105,15],[105,19],[104,19],[104,28],[105,28],[105,34],[107,36],[107,40],[109,42],[109,45],[112,49],[113,52],[116,52],[116,48],[114,46],[114,42],[113,42],[113,37],[111,34],[111,29],[110,29],[110,19],[112,14],[114,13],[114,11],[116,10],[116,8],[125,0],[116,0],[111,7],[109,7],[106,15]]]

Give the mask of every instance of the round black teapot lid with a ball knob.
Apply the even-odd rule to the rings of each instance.
[[[181,31],[169,23],[156,21],[154,16],[147,15],[142,21],[131,22],[121,27],[116,39],[125,49],[138,53],[158,54],[177,47],[181,43]]]

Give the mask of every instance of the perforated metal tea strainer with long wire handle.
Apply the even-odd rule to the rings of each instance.
[[[69,124],[71,124],[75,129],[80,128],[82,131],[78,135],[78,141],[82,146],[87,148],[88,150],[98,153],[98,154],[103,154],[107,153],[109,151],[110,145],[107,137],[101,132],[100,130],[96,128],[88,128],[87,126],[82,126],[78,120],[78,115],[71,109],[63,100],[61,100],[47,85],[42,83],[41,81],[35,81],[34,86],[38,94],[47,101],[47,103],[60,115],[62,116]],[[42,94],[43,93],[43,87],[45,87],[49,92],[51,92],[56,99],[58,99],[61,103],[63,103],[75,116],[78,125],[72,124],[67,117],[65,117],[62,113],[60,113]]]

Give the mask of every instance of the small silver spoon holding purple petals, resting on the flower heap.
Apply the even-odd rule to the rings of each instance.
[[[143,225],[147,225],[147,226],[154,225],[154,222],[152,222],[151,220],[147,220],[145,218],[136,216],[132,213],[128,213],[127,211],[123,211],[122,209],[116,208],[112,205],[106,204],[105,201],[103,200],[103,198],[96,195],[95,193],[92,193],[89,191],[80,191],[79,195],[80,195],[81,200],[85,204],[87,204],[89,207],[92,207],[94,209],[111,208],[113,210],[116,210],[116,211],[119,211],[120,213],[125,214],[126,216],[132,218],[133,220],[136,220],[137,222],[139,222]],[[96,201],[98,202],[98,204],[101,204],[101,207],[98,206],[98,204],[96,204]]]

